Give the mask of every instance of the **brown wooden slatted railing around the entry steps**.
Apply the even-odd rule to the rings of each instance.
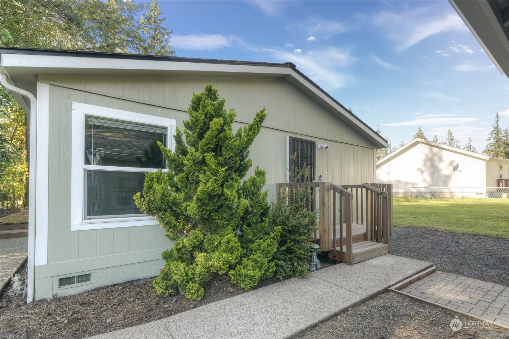
[[[391,184],[359,184],[343,187],[331,182],[276,184],[276,199],[285,190],[291,203],[298,187],[309,187],[308,209],[320,210],[318,243],[322,250],[332,250],[335,257],[336,239],[339,240],[338,248],[343,249],[345,224],[346,262],[351,263],[354,222],[366,225],[366,240],[389,243],[389,234],[392,234]],[[315,232],[315,239],[317,238]]]

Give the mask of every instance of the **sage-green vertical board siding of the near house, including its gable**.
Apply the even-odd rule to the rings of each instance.
[[[56,81],[56,80],[55,80]],[[266,171],[266,188],[287,181],[288,136],[328,144],[316,152],[316,179],[335,184],[359,184],[373,180],[373,146],[343,123],[332,117],[281,79],[174,79],[174,78],[63,78],[58,80],[84,89],[162,103],[186,109],[192,93],[207,83],[219,89],[226,109],[234,108],[237,120],[251,122],[254,114],[266,108],[267,119],[250,148],[253,166]],[[50,86],[49,115],[49,211],[48,263],[119,255],[171,247],[159,225],[104,230],[70,231],[71,179],[71,102],[123,109],[182,121],[187,113],[134,101]],[[234,130],[245,126],[234,123]],[[274,128],[271,128],[274,127]],[[284,129],[279,130],[278,128]],[[318,135],[310,136],[310,135]],[[336,142],[333,140],[341,140]],[[321,164],[322,172],[318,172]],[[269,196],[273,196],[270,192]]]

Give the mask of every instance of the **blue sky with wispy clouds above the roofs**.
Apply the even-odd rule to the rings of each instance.
[[[159,1],[179,56],[293,62],[392,144],[486,146],[509,81],[447,1]],[[226,98],[228,100],[228,98]]]

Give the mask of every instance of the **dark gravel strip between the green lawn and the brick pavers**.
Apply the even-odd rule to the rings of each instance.
[[[439,271],[509,286],[507,239],[394,227],[389,253],[431,262]]]

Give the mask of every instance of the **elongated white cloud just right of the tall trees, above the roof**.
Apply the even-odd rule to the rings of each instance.
[[[238,38],[220,34],[189,34],[172,35],[172,47],[176,49],[216,51],[224,47],[231,47]]]

